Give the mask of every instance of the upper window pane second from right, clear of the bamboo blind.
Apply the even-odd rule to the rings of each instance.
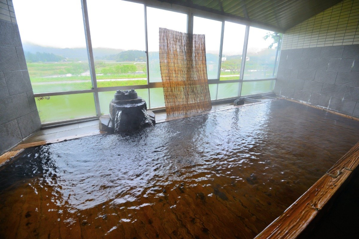
[[[245,25],[225,22],[220,80],[239,80],[245,34]]]

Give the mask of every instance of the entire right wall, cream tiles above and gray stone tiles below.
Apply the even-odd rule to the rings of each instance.
[[[285,32],[274,92],[359,117],[359,0]]]

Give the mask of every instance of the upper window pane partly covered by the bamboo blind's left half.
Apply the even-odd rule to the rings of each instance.
[[[187,32],[187,14],[147,7],[148,66],[150,82],[162,81],[159,68],[160,27],[179,32]]]

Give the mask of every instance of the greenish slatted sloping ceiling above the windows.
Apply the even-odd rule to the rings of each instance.
[[[160,0],[285,30],[342,0]]]

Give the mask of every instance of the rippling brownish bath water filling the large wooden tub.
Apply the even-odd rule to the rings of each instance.
[[[0,167],[0,238],[253,238],[358,135],[275,100],[26,149]]]

